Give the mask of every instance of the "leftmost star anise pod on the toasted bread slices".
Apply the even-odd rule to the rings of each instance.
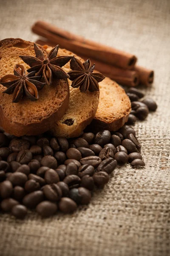
[[[12,101],[14,103],[19,102],[24,94],[31,101],[35,101],[38,99],[38,90],[45,85],[38,81],[40,79],[41,76],[35,76],[35,72],[26,74],[24,66],[17,64],[14,66],[14,75],[3,76],[0,84],[7,87],[3,93],[14,94]]]

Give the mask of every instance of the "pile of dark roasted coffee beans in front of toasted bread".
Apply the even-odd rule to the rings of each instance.
[[[0,209],[16,218],[34,208],[42,217],[72,213],[108,183],[117,164],[143,167],[140,149],[128,125],[68,140],[49,133],[15,137],[0,128]]]

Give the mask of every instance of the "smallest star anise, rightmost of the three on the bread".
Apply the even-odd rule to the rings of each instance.
[[[70,80],[73,81],[71,86],[74,88],[79,87],[82,93],[86,93],[88,90],[99,91],[99,82],[105,79],[101,73],[93,73],[95,64],[91,66],[91,61],[88,59],[84,63],[73,57],[70,61],[70,68],[73,71],[69,71],[68,75]]]

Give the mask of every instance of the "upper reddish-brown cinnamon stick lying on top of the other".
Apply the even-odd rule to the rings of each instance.
[[[87,40],[44,21],[37,21],[33,25],[32,31],[59,44],[60,47],[117,67],[132,69],[137,61],[135,55]]]

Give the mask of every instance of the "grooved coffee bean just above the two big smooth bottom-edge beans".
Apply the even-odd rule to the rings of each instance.
[[[50,201],[59,201],[62,197],[62,190],[57,184],[45,185],[43,192],[45,197]]]

